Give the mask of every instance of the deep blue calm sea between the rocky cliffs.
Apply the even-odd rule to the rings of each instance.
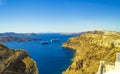
[[[38,41],[29,42],[5,42],[4,44],[14,49],[24,49],[37,62],[40,74],[61,74],[70,64],[75,51],[62,48],[63,42],[66,42],[72,35],[61,34],[41,34],[34,36],[40,38]],[[50,41],[59,38],[60,42],[50,44],[40,44],[41,41]]]

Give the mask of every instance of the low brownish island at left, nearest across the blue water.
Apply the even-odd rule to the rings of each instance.
[[[25,38],[25,37],[11,37],[11,36],[0,36],[0,42],[24,42],[24,41],[34,41],[39,40],[36,38]]]

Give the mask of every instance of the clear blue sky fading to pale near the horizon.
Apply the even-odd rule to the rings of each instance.
[[[0,0],[0,32],[120,31],[120,0]]]

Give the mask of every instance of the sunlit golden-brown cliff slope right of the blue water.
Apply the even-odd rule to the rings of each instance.
[[[116,52],[120,52],[120,34],[89,31],[70,38],[63,47],[76,50],[73,63],[63,74],[95,74],[101,60],[115,62]]]

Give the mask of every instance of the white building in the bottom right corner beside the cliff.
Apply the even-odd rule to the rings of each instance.
[[[120,74],[120,53],[116,54],[116,62],[101,61],[96,74]]]

